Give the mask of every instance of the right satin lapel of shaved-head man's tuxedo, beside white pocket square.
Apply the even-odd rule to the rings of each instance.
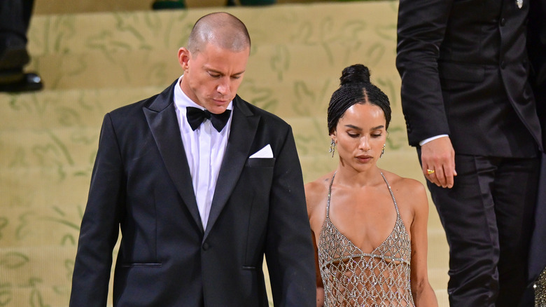
[[[218,174],[209,221],[207,221],[207,229],[203,240],[207,239],[216,219],[218,219],[223,207],[228,202],[235,184],[239,181],[244,163],[246,163],[246,159],[250,155],[254,135],[258,130],[260,116],[254,115],[239,96],[235,98],[234,104],[230,139],[228,139],[228,146],[225,149],[222,166]]]

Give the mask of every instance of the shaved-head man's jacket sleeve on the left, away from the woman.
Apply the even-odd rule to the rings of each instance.
[[[119,233],[123,186],[119,146],[111,117],[106,114],[80,227],[72,277],[71,307],[106,306],[112,251]]]

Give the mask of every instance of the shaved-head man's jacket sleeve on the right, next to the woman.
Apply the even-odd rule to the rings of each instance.
[[[314,249],[292,130],[276,156],[265,257],[275,306],[316,306]]]

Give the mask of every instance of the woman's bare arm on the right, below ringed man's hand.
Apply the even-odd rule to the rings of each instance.
[[[413,197],[412,207],[414,218],[410,233],[412,236],[412,261],[411,261],[411,287],[416,307],[437,307],[438,303],[433,288],[428,282],[427,270],[427,223],[428,223],[428,198],[426,191],[420,182],[412,180]]]

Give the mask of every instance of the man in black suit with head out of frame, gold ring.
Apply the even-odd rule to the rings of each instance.
[[[449,244],[451,306],[518,306],[542,135],[528,83],[528,0],[400,0],[409,144]]]

